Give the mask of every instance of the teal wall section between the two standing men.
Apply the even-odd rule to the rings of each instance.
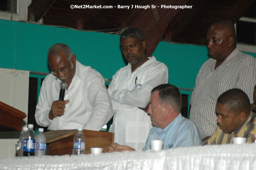
[[[159,42],[154,55],[169,69],[169,83],[183,88],[194,88],[196,75],[209,59],[205,46]]]

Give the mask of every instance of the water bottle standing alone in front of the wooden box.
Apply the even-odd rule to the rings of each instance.
[[[82,127],[77,129],[73,143],[73,155],[85,154],[85,135],[82,132]]]

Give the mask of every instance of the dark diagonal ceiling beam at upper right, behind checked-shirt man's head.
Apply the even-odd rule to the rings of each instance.
[[[206,32],[210,24],[220,19],[227,19],[236,23],[255,1],[256,0],[233,0],[232,2],[223,0],[208,1],[208,3],[194,14],[194,18],[192,18],[183,29],[180,29],[180,33],[171,36],[171,41],[205,45]]]

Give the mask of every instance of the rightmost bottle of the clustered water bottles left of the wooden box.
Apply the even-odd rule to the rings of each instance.
[[[46,138],[44,135],[44,129],[39,128],[38,134],[36,135],[36,146],[35,146],[35,156],[43,156],[46,151]]]

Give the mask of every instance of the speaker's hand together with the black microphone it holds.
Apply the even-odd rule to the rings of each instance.
[[[66,87],[67,87],[66,82],[60,82],[59,100],[52,102],[51,110],[49,112],[49,119],[51,120],[57,116],[64,115],[65,105],[69,103],[69,100],[64,101]]]

